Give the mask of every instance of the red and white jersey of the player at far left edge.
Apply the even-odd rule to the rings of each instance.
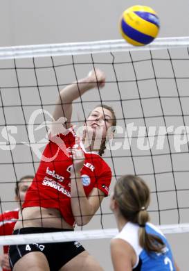
[[[10,236],[19,218],[19,208],[6,211],[0,215],[0,235]],[[4,254],[8,254],[8,245],[3,246]]]

